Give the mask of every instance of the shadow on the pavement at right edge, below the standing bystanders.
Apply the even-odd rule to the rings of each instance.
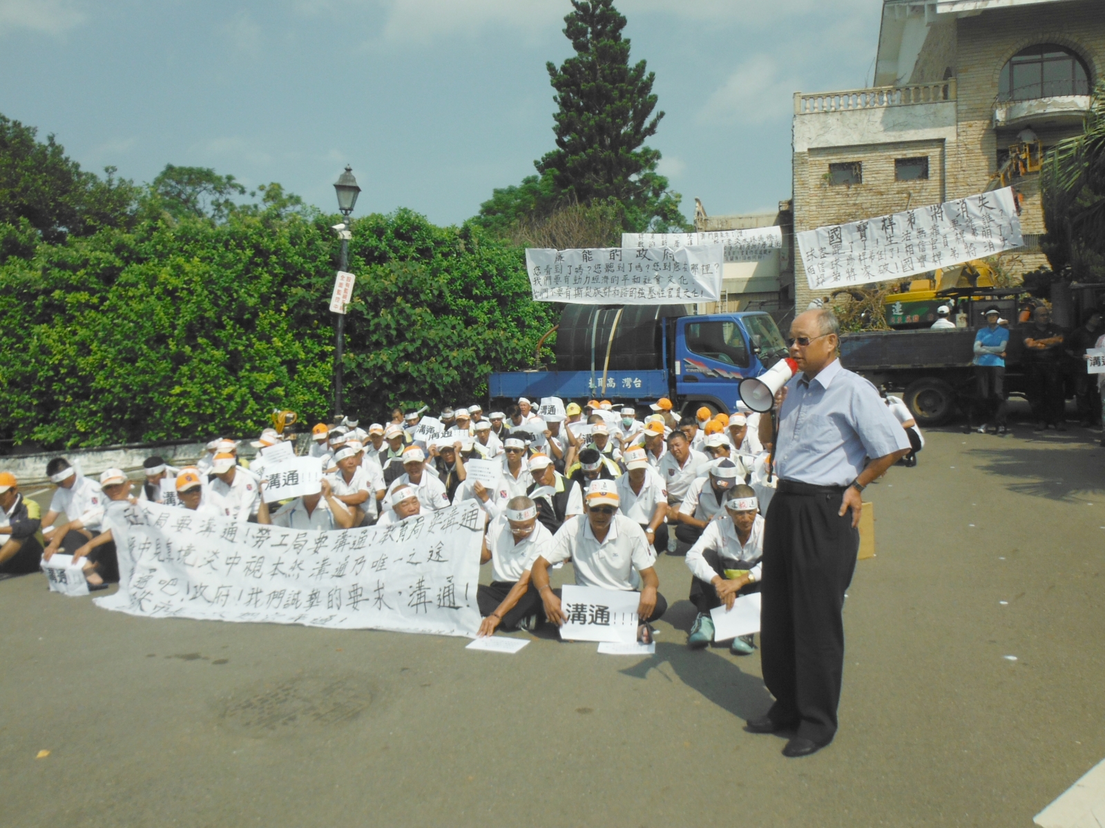
[[[1032,448],[1017,448],[1013,444],[1002,449],[972,448],[964,454],[980,460],[979,469],[982,471],[1021,478],[1007,486],[1010,491],[1019,495],[1066,500],[1076,492],[1105,492],[1099,471],[1103,455],[1098,453],[1102,449],[1086,443],[1085,452],[1072,452],[1067,446],[1074,442],[1085,443],[1064,439],[1062,448],[1052,450],[1040,447],[1039,443]]]

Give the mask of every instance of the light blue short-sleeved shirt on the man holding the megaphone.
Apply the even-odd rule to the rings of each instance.
[[[787,383],[775,468],[780,480],[848,486],[865,458],[909,448],[905,429],[875,386],[833,360],[812,380]]]

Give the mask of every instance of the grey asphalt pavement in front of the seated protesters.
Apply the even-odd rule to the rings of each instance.
[[[1105,449],[1015,431],[932,432],[869,488],[877,556],[814,756],[741,730],[758,654],[686,649],[680,558],[654,658],[150,620],[33,575],[0,582],[0,821],[1030,826],[1105,756]]]

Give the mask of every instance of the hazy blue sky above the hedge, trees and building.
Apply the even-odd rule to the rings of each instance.
[[[620,0],[667,113],[661,170],[711,214],[790,195],[791,95],[871,79],[880,0]],[[552,147],[568,0],[0,0],[0,113],[82,166],[278,181],[327,210],[461,222]]]

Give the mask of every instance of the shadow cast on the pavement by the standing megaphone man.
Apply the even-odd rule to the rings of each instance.
[[[641,659],[639,664],[619,672],[643,679],[650,670],[659,668],[665,661],[684,684],[738,719],[764,715],[771,707],[771,697],[764,687],[762,679],[749,676],[737,665],[709,649],[690,650],[681,644],[657,641],[654,658]]]

